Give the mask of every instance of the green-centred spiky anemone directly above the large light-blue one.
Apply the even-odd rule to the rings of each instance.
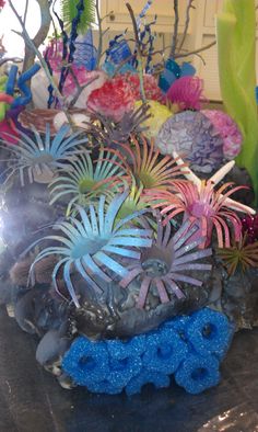
[[[50,193],[54,195],[50,204],[71,195],[67,207],[68,215],[75,204],[84,206],[101,194],[112,198],[115,193],[124,191],[130,183],[130,178],[118,163],[117,156],[103,149],[99,150],[95,167],[91,155],[85,152],[71,161],[69,168],[71,169],[64,169],[64,172],[54,179],[49,185]]]

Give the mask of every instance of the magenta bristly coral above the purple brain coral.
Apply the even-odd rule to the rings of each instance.
[[[203,96],[203,81],[198,77],[181,77],[168,89],[166,98],[178,104],[179,110],[200,110]]]

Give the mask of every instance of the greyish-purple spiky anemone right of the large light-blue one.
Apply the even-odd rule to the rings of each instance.
[[[178,282],[202,285],[201,281],[186,274],[189,270],[211,270],[210,264],[196,262],[212,254],[211,249],[195,251],[203,242],[203,238],[188,241],[197,230],[198,227],[188,220],[172,236],[171,223],[163,228],[162,220],[157,221],[157,235],[152,247],[142,251],[140,260],[130,265],[130,272],[120,282],[120,285],[126,288],[134,278],[140,281],[137,304],[139,308],[144,307],[150,291],[157,291],[161,302],[167,303],[169,295],[177,298],[185,297]]]

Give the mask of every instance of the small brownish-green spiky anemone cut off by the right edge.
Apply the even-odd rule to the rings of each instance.
[[[241,236],[239,241],[234,241],[232,247],[219,249],[218,254],[230,276],[236,270],[245,273],[250,268],[258,268],[258,241],[248,243],[247,235]]]

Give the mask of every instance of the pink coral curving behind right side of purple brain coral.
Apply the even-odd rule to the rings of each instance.
[[[241,151],[243,137],[237,124],[226,113],[218,110],[203,110],[202,113],[211,121],[223,138],[223,152],[226,159],[234,159]]]

